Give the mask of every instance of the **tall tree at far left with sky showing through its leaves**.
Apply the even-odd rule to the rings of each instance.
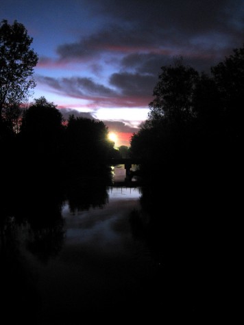
[[[22,103],[36,86],[32,77],[38,55],[30,48],[32,38],[21,23],[0,23],[0,120],[3,109]]]

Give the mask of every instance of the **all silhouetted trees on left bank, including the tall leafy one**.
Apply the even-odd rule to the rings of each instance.
[[[33,39],[17,21],[0,22],[0,167],[2,186],[29,179],[79,179],[101,174],[115,155],[103,122],[70,116],[65,123],[56,105],[36,99],[22,114],[36,86],[38,54]],[[23,184],[21,183],[21,186]]]

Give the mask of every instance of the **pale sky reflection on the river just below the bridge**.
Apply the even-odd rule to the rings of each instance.
[[[66,222],[66,245],[88,245],[89,250],[103,249],[104,253],[123,251],[121,241],[130,233],[129,217],[134,209],[139,209],[141,196],[138,187],[110,187],[108,204],[103,208],[71,213],[69,205],[64,205],[62,216]]]

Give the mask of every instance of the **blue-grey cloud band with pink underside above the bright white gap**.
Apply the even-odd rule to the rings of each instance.
[[[114,73],[110,87],[96,83],[87,77],[45,77],[36,76],[39,86],[50,88],[63,96],[87,100],[90,107],[145,107],[151,101],[154,76]]]

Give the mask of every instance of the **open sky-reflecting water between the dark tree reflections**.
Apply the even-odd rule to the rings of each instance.
[[[130,213],[139,208],[139,189],[108,192],[103,208],[71,213],[64,205],[62,251],[39,267],[42,315],[69,320],[82,314],[85,322],[136,316],[133,306],[138,306],[143,287],[148,290],[157,265],[145,242],[132,235]]]

